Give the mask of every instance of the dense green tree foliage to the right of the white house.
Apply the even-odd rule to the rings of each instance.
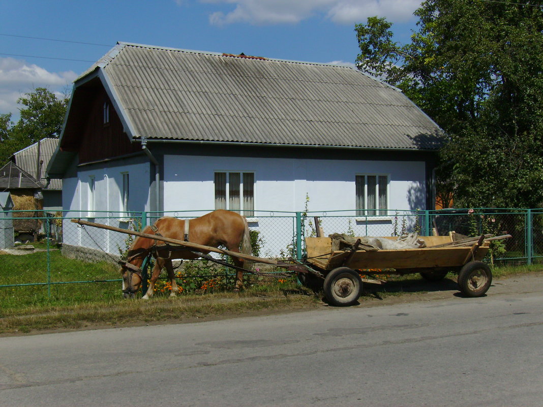
[[[539,2],[427,0],[411,42],[357,24],[359,69],[401,88],[447,133],[438,181],[455,206],[543,202],[543,8]]]

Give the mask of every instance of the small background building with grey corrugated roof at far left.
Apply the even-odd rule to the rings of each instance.
[[[46,212],[62,210],[62,180],[47,180],[45,177],[45,169],[58,143],[58,138],[43,138],[27,148],[17,151],[11,157],[11,161],[18,168],[21,168],[27,174],[32,174],[34,179],[43,185],[41,194],[43,196],[43,211]]]

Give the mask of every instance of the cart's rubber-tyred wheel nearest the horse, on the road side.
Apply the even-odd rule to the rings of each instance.
[[[355,270],[339,267],[326,275],[323,289],[326,299],[332,305],[348,307],[360,297],[362,280]]]

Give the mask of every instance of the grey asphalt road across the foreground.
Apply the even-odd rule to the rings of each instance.
[[[521,279],[483,298],[0,338],[0,406],[541,406],[543,278]]]

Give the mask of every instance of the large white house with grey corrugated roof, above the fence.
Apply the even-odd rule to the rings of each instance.
[[[47,167],[98,211],[432,208],[441,130],[394,87],[323,63],[117,43],[74,82]],[[388,220],[390,223],[390,219]]]

